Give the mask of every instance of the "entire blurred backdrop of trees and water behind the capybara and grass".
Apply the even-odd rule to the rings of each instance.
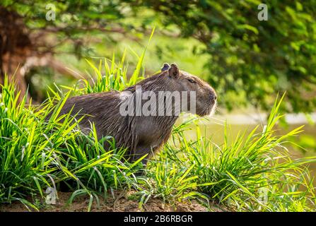
[[[48,86],[73,85],[88,74],[85,59],[122,57],[129,73],[153,38],[146,76],[164,62],[208,81],[218,112],[206,134],[223,142],[264,125],[276,95],[286,92],[278,132],[305,124],[289,145],[293,157],[316,155],[316,1],[13,1],[0,3],[0,83],[13,74],[33,102]],[[193,136],[193,135],[192,135]],[[316,169],[315,165],[310,166]],[[315,174],[315,172],[314,172]]]

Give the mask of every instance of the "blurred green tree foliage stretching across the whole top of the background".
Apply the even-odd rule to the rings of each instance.
[[[21,16],[29,32],[54,37],[54,44],[38,47],[41,52],[64,51],[80,58],[93,53],[94,40],[102,38],[102,44],[141,40],[158,24],[160,37],[169,43],[156,44],[161,59],[175,50],[172,43],[178,36],[203,44],[200,48],[189,43],[194,45],[192,55],[184,58],[195,54],[205,58],[210,73],[203,77],[228,109],[241,104],[270,109],[276,92],[284,91],[290,103],[287,111],[315,108],[315,0],[267,1],[267,21],[258,20],[261,2],[252,0],[54,1],[56,20],[46,20],[52,9],[47,4],[6,0],[0,5]]]

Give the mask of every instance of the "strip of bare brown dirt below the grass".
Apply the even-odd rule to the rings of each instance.
[[[41,212],[83,212],[88,210],[89,197],[77,196],[73,203],[69,204],[71,193],[58,192],[58,199],[56,204],[48,205],[45,201],[40,201]],[[174,204],[164,203],[160,198],[151,198],[143,206],[139,206],[139,201],[132,200],[130,194],[124,191],[115,192],[114,196],[108,196],[106,199],[100,198],[100,205],[93,200],[91,206],[92,212],[205,212],[205,211],[223,211],[219,206],[212,206],[206,208],[199,204],[197,201],[176,202]],[[0,212],[23,212],[29,211],[23,203],[13,202],[11,204],[0,205]],[[36,211],[32,210],[31,211]]]

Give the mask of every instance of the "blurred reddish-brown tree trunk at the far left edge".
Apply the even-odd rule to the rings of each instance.
[[[21,66],[32,52],[32,43],[23,19],[17,13],[0,7],[0,83],[7,74],[10,81],[16,81],[16,90],[21,90],[20,100],[27,84]]]

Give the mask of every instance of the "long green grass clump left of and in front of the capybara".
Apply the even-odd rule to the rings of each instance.
[[[26,95],[18,102],[20,94],[7,78],[1,90],[0,203],[21,201],[36,209],[27,197],[44,198],[47,187],[58,189],[61,182],[76,195],[106,196],[136,171],[137,164],[124,160],[125,150],[103,148],[106,141],[98,141],[93,126],[86,135],[79,129],[80,119],[59,116],[70,92],[35,106],[25,105]]]

